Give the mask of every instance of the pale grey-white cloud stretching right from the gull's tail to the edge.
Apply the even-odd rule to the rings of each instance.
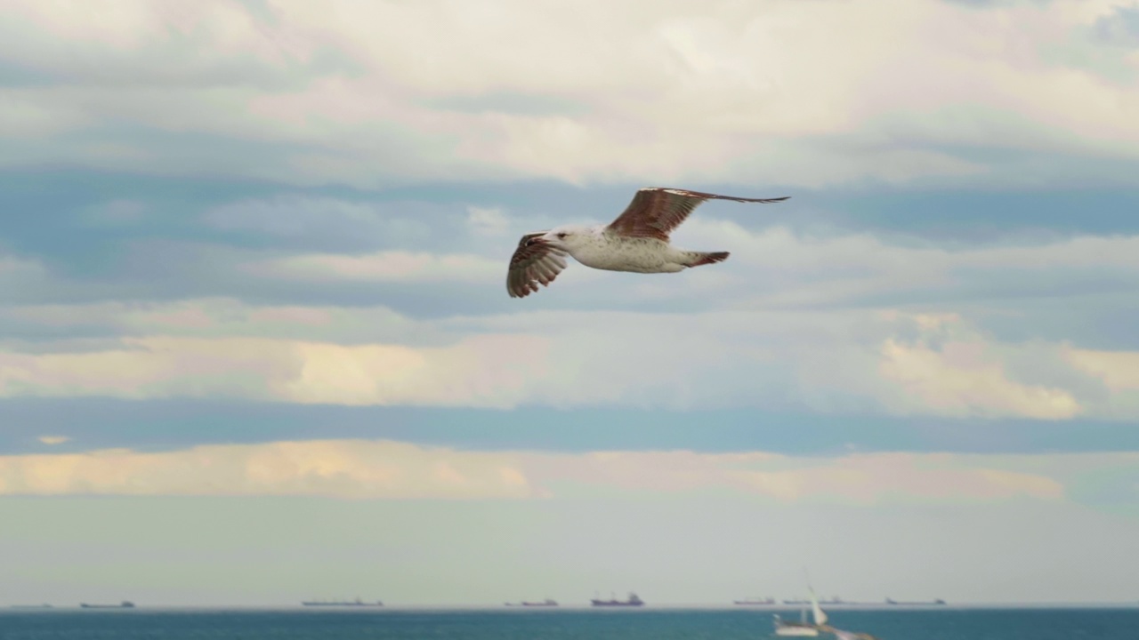
[[[702,295],[732,293],[737,306],[811,307],[1000,297],[1055,297],[1091,290],[1130,295],[1139,276],[1139,237],[1076,236],[1005,245],[939,246],[870,232],[795,231],[695,215],[673,238],[683,247],[727,248],[723,269],[693,271]]]

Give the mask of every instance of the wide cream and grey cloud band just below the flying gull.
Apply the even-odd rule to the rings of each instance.
[[[757,407],[1052,420],[1139,411],[1125,386],[1129,352],[1097,360],[1068,343],[1006,343],[954,314],[531,311],[415,320],[384,307],[205,300],[8,315],[105,331],[0,351],[0,395],[9,397]],[[1105,362],[1114,368],[1101,369]]]

